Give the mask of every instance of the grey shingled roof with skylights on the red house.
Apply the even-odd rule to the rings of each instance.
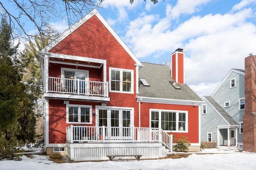
[[[139,78],[145,78],[149,86],[144,86],[139,81],[138,96],[151,98],[166,98],[175,100],[194,100],[202,99],[186,84],[178,84],[175,88],[170,81],[171,70],[168,66],[162,64],[142,63],[144,66],[139,69]]]

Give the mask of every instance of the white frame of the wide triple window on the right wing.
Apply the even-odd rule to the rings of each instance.
[[[159,112],[159,124],[161,124],[161,121],[162,121],[162,117],[161,117],[161,112],[164,111],[164,112],[176,112],[176,131],[173,131],[173,130],[163,130],[165,132],[176,132],[176,133],[188,133],[188,111],[185,111],[185,110],[165,110],[165,109],[149,109],[149,126],[151,127],[151,112],[152,111],[158,111]],[[186,114],[186,122],[185,122],[185,131],[179,131],[178,130],[178,125],[179,125],[179,113],[185,113]],[[158,125],[159,127],[159,125]],[[162,129],[162,126],[161,126],[161,129]]]

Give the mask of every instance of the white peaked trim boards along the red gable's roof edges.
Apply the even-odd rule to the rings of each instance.
[[[78,27],[80,27],[83,23],[85,23],[87,20],[92,18],[92,16],[96,16],[102,24],[108,29],[108,31],[114,36],[114,38],[120,43],[120,45],[126,50],[126,52],[132,57],[132,59],[137,64],[141,64],[138,58],[132,53],[132,51],[127,47],[127,45],[122,41],[122,39],[117,35],[117,33],[110,27],[110,25],[107,23],[106,20],[100,15],[100,13],[94,8],[91,12],[89,12],[86,16],[84,16],[81,20],[77,21],[74,25],[72,25],[69,29],[64,31],[55,41],[47,45],[42,51],[50,51],[54,46],[56,46],[60,41],[62,41],[64,38],[66,38],[68,35],[70,35],[73,31],[75,31]]]

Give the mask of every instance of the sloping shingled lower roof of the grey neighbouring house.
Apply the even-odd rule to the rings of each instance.
[[[212,98],[211,96],[204,96],[206,100],[226,119],[230,125],[238,125],[238,123]]]

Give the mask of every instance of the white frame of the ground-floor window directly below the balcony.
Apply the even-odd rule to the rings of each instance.
[[[81,107],[89,107],[90,108],[90,121],[89,122],[81,122],[81,119],[78,119],[78,122],[70,122],[68,111],[69,107],[78,107],[78,117],[81,117],[81,112],[79,111]],[[92,106],[91,105],[80,105],[80,104],[66,104],[66,123],[69,124],[92,124]]]

